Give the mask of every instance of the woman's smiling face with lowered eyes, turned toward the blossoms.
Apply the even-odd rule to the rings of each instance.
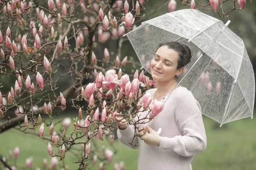
[[[175,75],[182,73],[183,69],[177,70],[179,53],[169,49],[166,45],[157,49],[154,58],[151,60],[151,76],[153,79],[160,81],[170,81]]]

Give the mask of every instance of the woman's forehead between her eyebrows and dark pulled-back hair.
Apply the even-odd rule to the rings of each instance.
[[[166,45],[158,48],[156,54],[159,55],[161,59],[169,59],[171,61],[177,61],[179,57],[179,53],[177,51],[168,48]]]

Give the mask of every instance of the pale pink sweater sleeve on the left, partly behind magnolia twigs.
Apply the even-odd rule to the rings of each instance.
[[[129,124],[125,130],[121,130],[119,128],[117,129],[117,137],[119,141],[122,142],[123,144],[127,145],[128,147],[131,147],[132,149],[137,149],[139,147],[139,142],[138,137],[134,137],[134,132],[134,125]]]

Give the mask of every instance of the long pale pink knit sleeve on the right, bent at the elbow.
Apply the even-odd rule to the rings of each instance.
[[[202,153],[206,149],[207,139],[199,103],[189,93],[180,94],[177,103],[175,118],[183,136],[161,136],[159,147],[173,150],[181,156]]]

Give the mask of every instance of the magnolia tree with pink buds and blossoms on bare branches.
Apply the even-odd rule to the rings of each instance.
[[[210,0],[206,5],[195,0],[181,2],[190,8],[195,8],[195,3],[206,10],[212,6],[219,16],[226,16],[230,11],[225,13],[222,7],[227,1]],[[0,30],[0,70],[4,81],[16,79],[9,91],[0,90],[0,118],[3,119],[0,133],[16,127],[47,141],[48,145],[42,147],[48,150],[52,161],[47,164],[44,159],[44,169],[68,169],[66,162],[57,167],[66,152],[77,156],[73,163],[78,164],[79,170],[98,164],[99,169],[107,167],[117,150],[111,145],[101,150],[91,148],[90,142],[93,146],[97,140],[113,142],[116,115],[137,128],[137,122],[132,120],[138,112],[148,111],[151,120],[163,110],[163,103],[152,102],[152,96],[145,94],[149,88],[156,87],[155,80],[143,71],[123,73],[121,68],[126,64],[140,64],[127,61],[127,56],[120,63],[119,58],[122,35],[151,15],[145,15],[145,3],[144,0],[48,0],[44,4],[39,0],[0,0],[0,22],[6,27]],[[238,9],[236,2],[233,3],[231,11]],[[167,4],[169,11],[176,9],[176,1],[168,0],[152,14]],[[244,8],[245,0],[238,0],[238,4]],[[219,6],[222,13],[217,11]],[[94,54],[97,45],[104,45],[110,39],[118,42],[117,56],[104,48],[104,57],[97,59]],[[86,79],[90,75],[95,81],[88,83]],[[68,79],[72,85],[60,92],[62,79]],[[77,114],[72,119],[60,120],[58,115],[66,109],[66,100]],[[57,124],[61,124],[58,130],[54,128]],[[53,147],[58,152],[53,152]],[[0,156],[6,169],[18,168],[10,160],[17,159],[19,152],[15,147],[10,150],[9,158]],[[32,157],[26,159],[27,168],[32,167],[32,161]],[[116,163],[114,169],[124,169],[124,163]]]

